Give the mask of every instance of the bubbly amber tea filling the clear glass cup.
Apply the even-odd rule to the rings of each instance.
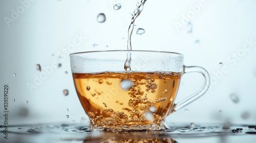
[[[73,73],[91,127],[110,130],[143,130],[155,127],[143,125],[160,125],[174,104],[180,77],[181,73],[172,72]]]

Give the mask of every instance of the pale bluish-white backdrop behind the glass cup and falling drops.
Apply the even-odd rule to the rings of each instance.
[[[29,3],[25,8],[21,2]],[[126,50],[130,13],[136,8],[137,1],[21,2],[1,0],[0,5],[1,112],[4,85],[7,84],[11,125],[81,123],[82,117],[88,124],[73,85],[69,54]],[[121,9],[114,10],[113,5],[118,3]],[[203,3],[202,7],[200,3]],[[145,3],[135,21],[133,50],[181,53],[185,56],[185,65],[202,66],[211,77],[211,88],[206,94],[169,115],[167,123],[255,124],[256,43],[249,46],[246,42],[246,39],[256,42],[255,6],[254,0],[148,0]],[[200,7],[196,13],[193,12],[195,7]],[[12,18],[12,9],[19,12],[18,16],[14,14],[15,19]],[[105,14],[105,22],[97,21],[99,13]],[[183,15],[189,17],[188,21],[182,19]],[[8,22],[6,17],[12,22]],[[191,23],[191,33],[188,22]],[[177,29],[175,23],[182,27]],[[138,28],[143,28],[145,33],[136,34]],[[85,38],[75,49],[68,50],[77,35]],[[245,44],[250,48],[247,51],[243,50]],[[233,54],[238,54],[237,59]],[[44,80],[35,85],[36,88],[28,88],[28,84],[35,84],[36,77],[53,61],[60,63],[61,67],[53,68]],[[226,68],[225,73],[219,66],[220,62]],[[41,65],[41,72],[36,69],[36,64]],[[184,75],[177,102],[197,91],[200,82],[202,79],[197,74]],[[69,90],[68,96],[64,96],[64,89]],[[231,100],[232,93],[239,102]]]

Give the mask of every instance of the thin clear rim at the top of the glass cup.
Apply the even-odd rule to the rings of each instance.
[[[176,53],[176,52],[167,52],[167,51],[150,51],[150,50],[102,50],[102,51],[86,51],[86,52],[77,52],[71,53],[70,56],[77,55],[77,54],[84,54],[84,53],[99,53],[99,52],[154,52],[154,53],[168,53],[168,54],[176,54],[179,56],[184,57],[183,54]]]

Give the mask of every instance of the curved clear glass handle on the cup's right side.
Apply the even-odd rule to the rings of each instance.
[[[197,93],[193,94],[192,96],[180,101],[179,103],[177,103],[175,105],[175,107],[173,108],[172,112],[177,111],[183,107],[185,107],[186,105],[190,104],[191,102],[197,100],[198,98],[202,97],[203,94],[206,92],[206,90],[209,88],[210,85],[210,76],[208,74],[208,72],[200,66],[183,66],[183,73],[193,73],[193,72],[197,72],[203,75],[204,77],[204,86],[203,88],[198,91]]]

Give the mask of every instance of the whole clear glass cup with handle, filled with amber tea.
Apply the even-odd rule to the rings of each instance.
[[[129,54],[128,54],[129,53]],[[126,55],[131,70],[124,70]],[[209,86],[207,71],[184,66],[183,55],[156,51],[97,51],[70,55],[78,98],[91,129],[161,130],[164,117],[201,97]],[[204,88],[174,104],[180,78],[198,72]]]

